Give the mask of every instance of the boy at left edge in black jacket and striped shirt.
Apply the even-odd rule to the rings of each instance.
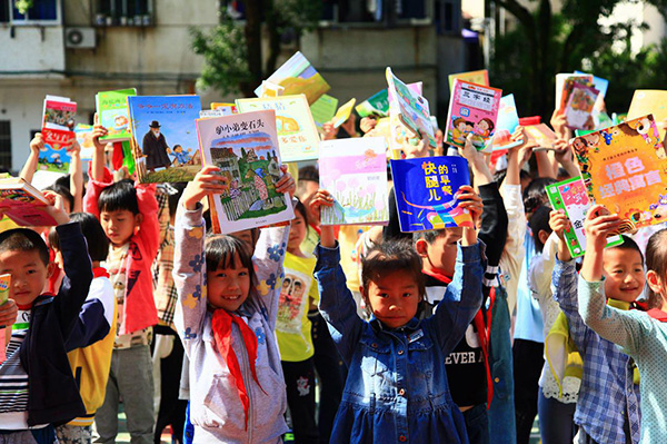
[[[0,274],[11,274],[9,297],[19,312],[0,365],[0,438],[16,443],[57,442],[53,423],[86,414],[67,361],[70,336],[88,295],[92,269],[78,223],[69,223],[62,199],[47,211],[60,224],[64,278],[58,296],[42,294],[53,270],[49,249],[33,230],[0,234]]]

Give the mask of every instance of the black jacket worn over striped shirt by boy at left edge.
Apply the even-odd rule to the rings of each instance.
[[[64,343],[90,290],[92,266],[79,223],[56,227],[64,278],[58,296],[41,295],[32,304],[30,328],[21,344],[28,373],[28,425],[64,424],[86,415]]]

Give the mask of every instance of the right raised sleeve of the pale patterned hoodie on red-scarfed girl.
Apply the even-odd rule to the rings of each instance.
[[[280,288],[285,272],[282,263],[287,251],[289,225],[282,227],[262,228],[255,246],[252,265],[255,266],[255,285],[260,299],[267,309],[269,327],[276,329]]]

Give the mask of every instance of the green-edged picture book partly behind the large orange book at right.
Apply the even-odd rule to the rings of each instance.
[[[578,176],[549,185],[547,187],[547,196],[551,203],[551,208],[563,209],[571,224],[564,233],[570,255],[573,257],[584,256],[586,251],[584,220],[586,220],[586,214],[591,207],[584,180]],[[607,239],[608,247],[619,244],[623,244],[623,238],[618,235]]]

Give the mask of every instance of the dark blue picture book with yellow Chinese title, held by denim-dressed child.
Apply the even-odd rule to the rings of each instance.
[[[465,158],[438,156],[391,160],[391,177],[401,231],[472,227],[469,211],[454,198],[461,185],[470,185]]]

